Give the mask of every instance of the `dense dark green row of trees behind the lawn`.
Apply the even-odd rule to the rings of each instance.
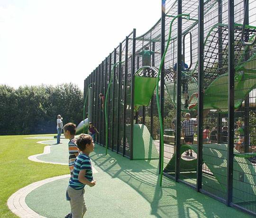
[[[82,120],[83,94],[77,85],[0,85],[0,135],[55,133],[58,114],[64,124]]]

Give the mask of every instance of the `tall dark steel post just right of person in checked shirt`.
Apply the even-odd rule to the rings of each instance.
[[[203,86],[204,86],[204,0],[199,1],[198,18],[198,128],[197,128],[197,183],[196,189],[202,187],[202,147],[203,147]]]

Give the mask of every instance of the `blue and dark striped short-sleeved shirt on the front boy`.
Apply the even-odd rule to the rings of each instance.
[[[73,189],[80,190],[85,186],[85,184],[79,182],[78,180],[78,174],[81,170],[86,170],[85,178],[91,182],[93,180],[91,159],[89,156],[83,153],[80,153],[74,162],[73,178],[71,178],[69,181],[69,186]]]

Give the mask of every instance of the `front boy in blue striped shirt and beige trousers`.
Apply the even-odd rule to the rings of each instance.
[[[83,197],[84,186],[93,187],[96,184],[93,181],[89,157],[89,154],[94,150],[94,142],[91,136],[82,134],[76,139],[76,145],[81,153],[75,159],[73,178],[69,181],[67,192],[70,197],[72,218],[82,218],[87,210]]]

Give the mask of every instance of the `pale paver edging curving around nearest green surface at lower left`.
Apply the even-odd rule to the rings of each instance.
[[[20,218],[45,218],[27,206],[25,202],[27,194],[48,182],[53,182],[55,180],[64,179],[67,177],[70,177],[70,174],[55,176],[39,182],[34,182],[16,191],[9,197],[7,201],[9,209]]]

